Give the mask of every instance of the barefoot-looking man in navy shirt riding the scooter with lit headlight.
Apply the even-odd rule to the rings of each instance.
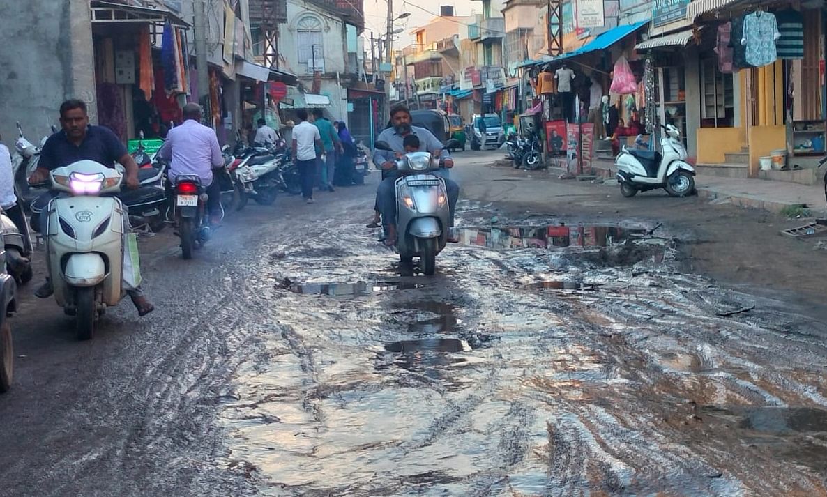
[[[63,130],[56,132],[46,140],[41,151],[41,160],[37,165],[37,170],[29,178],[29,184],[44,183],[49,179],[50,171],[59,167],[79,160],[94,160],[110,168],[114,168],[115,162],[120,163],[127,170],[127,188],[137,189],[140,186],[138,165],[135,160],[127,153],[126,147],[112,131],[106,127],[89,125],[86,103],[83,100],[71,99],[60,105],[60,125]],[[49,198],[54,198],[56,195],[55,192],[44,194]],[[41,212],[41,232],[46,226],[48,211],[49,209],[44,207]],[[125,230],[123,237],[127,236],[126,231],[128,230]],[[127,246],[126,240],[123,246]],[[130,251],[124,251],[123,256],[125,260],[131,257]],[[133,285],[127,279],[124,279],[122,284],[132,303],[135,304],[139,316],[145,316],[155,310],[152,303],[141,292],[139,285]],[[35,295],[41,299],[48,299],[53,291],[51,282],[46,280],[45,284],[36,290]]]

